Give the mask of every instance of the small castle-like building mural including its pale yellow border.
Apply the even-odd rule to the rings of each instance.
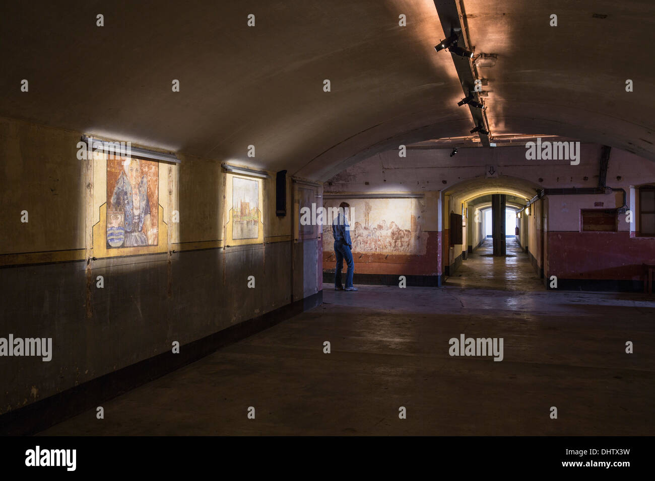
[[[263,181],[255,177],[227,173],[225,205],[228,245],[263,243]]]

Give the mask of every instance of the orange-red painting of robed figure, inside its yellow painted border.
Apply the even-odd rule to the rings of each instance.
[[[157,245],[159,162],[107,159],[107,249]]]

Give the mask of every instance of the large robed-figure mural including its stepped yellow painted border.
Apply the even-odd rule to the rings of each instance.
[[[136,157],[94,154],[94,257],[168,252],[162,206],[168,207],[168,198],[160,198],[160,192],[168,190],[168,175],[160,175],[165,166]]]

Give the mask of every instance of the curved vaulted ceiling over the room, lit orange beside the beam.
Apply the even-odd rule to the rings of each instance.
[[[655,67],[641,50],[652,43],[652,1],[462,7],[476,53],[498,56],[479,69],[492,134],[565,135],[655,160]],[[1,116],[321,180],[399,143],[472,128],[451,54],[434,51],[446,35],[432,0],[1,9]]]

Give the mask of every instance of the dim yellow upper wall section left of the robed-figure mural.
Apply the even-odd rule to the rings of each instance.
[[[0,265],[84,258],[80,137],[0,118]]]

